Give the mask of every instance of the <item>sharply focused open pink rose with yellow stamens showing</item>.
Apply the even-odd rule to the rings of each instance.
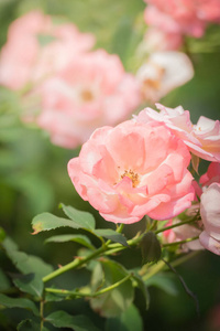
[[[190,154],[163,124],[124,121],[97,129],[68,174],[79,195],[114,223],[134,223],[145,214],[167,220],[190,206]]]

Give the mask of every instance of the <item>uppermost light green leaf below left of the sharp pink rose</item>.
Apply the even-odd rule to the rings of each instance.
[[[96,221],[90,213],[78,211],[70,205],[65,205],[63,203],[61,203],[61,207],[70,220],[78,224],[78,228],[95,229]]]

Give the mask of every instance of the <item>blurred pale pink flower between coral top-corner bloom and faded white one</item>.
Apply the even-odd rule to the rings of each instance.
[[[148,28],[140,47],[142,52],[177,51],[183,45],[179,33],[166,32],[157,28]]]

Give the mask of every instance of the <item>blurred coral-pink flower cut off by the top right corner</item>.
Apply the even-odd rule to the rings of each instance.
[[[207,22],[220,23],[219,0],[145,0],[145,21],[173,33],[202,36]]]

